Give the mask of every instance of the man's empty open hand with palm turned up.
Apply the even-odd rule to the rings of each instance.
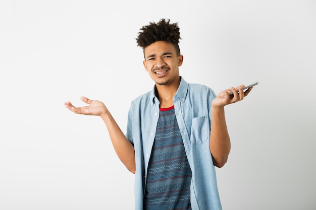
[[[81,97],[81,101],[89,104],[88,106],[82,106],[82,107],[75,107],[72,105],[70,101],[65,102],[64,105],[66,108],[68,108],[70,111],[76,113],[76,114],[85,114],[85,115],[96,115],[100,116],[102,113],[107,111],[106,105],[103,104],[101,101],[96,100],[90,100],[86,97]]]

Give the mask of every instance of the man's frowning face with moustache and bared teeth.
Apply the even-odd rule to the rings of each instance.
[[[156,41],[144,48],[144,67],[156,85],[169,85],[180,81],[179,66],[183,56],[177,56],[172,43]]]

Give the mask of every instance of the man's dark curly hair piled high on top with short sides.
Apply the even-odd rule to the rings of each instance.
[[[143,26],[136,38],[137,46],[143,49],[156,41],[167,41],[174,45],[177,55],[180,55],[179,48],[180,29],[178,23],[170,23],[169,19],[161,19],[159,22],[150,22]]]

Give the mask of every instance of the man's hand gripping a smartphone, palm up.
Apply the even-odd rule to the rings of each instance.
[[[247,96],[253,87],[248,88],[245,92],[243,92],[244,85],[240,85],[236,88],[232,87],[231,89],[224,90],[220,92],[217,97],[213,100],[212,106],[214,107],[224,107],[228,104],[236,103],[237,101],[243,100],[245,96]],[[234,97],[230,98],[229,93],[233,92]],[[238,93],[239,92],[239,93]]]

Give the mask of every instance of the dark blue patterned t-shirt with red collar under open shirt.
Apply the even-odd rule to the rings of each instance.
[[[161,108],[148,165],[144,209],[191,209],[191,178],[174,106]]]

